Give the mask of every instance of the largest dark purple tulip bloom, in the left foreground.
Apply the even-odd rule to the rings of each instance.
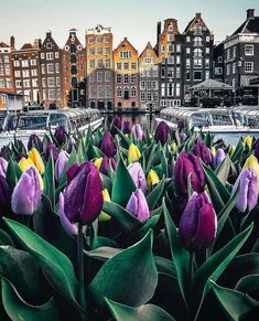
[[[102,208],[101,180],[93,162],[85,163],[64,191],[64,211],[73,223],[89,225]]]

